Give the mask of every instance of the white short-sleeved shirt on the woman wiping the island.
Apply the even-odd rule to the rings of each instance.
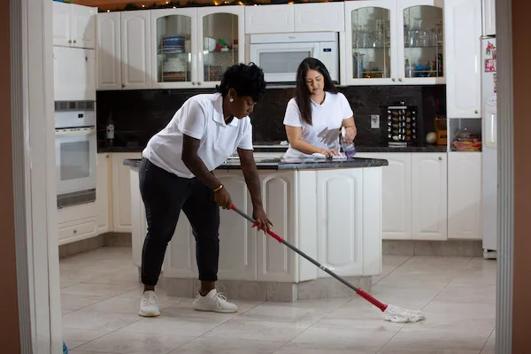
[[[312,101],[312,125],[306,123],[298,109],[295,98],[291,98],[286,108],[284,125],[289,127],[302,127],[301,140],[311,143],[320,149],[339,150],[339,133],[342,120],[349,119],[354,113],[349,101],[341,93],[325,93],[322,104]],[[304,154],[299,150],[289,147],[284,158],[311,158],[312,155]]]

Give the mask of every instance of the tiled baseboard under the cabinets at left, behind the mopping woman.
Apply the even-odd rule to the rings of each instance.
[[[132,244],[130,233],[106,233],[59,246],[59,258],[70,257],[78,253],[96,250],[105,246],[132,247]]]

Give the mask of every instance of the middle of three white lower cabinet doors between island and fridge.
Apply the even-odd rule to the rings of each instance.
[[[445,153],[412,154],[412,238],[447,239],[447,162]]]

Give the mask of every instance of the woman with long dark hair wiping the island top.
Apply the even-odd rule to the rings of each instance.
[[[343,141],[354,141],[357,130],[347,98],[335,88],[327,67],[316,58],[305,58],[296,73],[296,94],[284,116],[289,149],[284,158],[327,158],[339,155],[340,130]]]

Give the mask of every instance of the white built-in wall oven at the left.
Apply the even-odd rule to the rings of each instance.
[[[96,201],[94,101],[56,102],[58,208]]]

